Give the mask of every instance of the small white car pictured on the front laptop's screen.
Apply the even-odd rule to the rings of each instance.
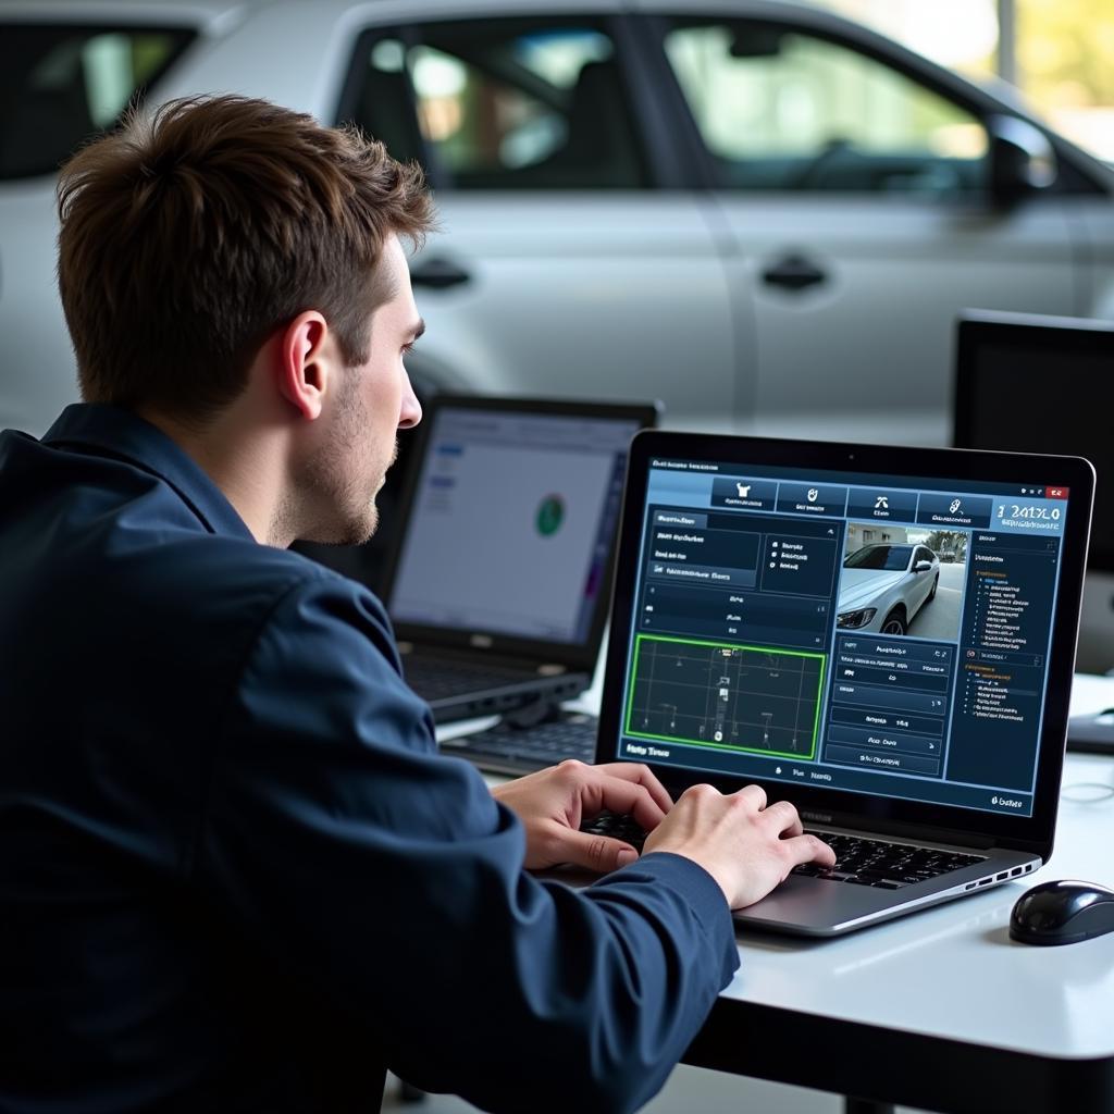
[[[936,598],[939,584],[940,560],[928,546],[863,546],[843,560],[836,626],[906,634],[917,612]]]

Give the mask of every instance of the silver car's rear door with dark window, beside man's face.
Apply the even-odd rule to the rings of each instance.
[[[643,95],[614,17],[368,31],[340,118],[421,162],[440,214],[411,266],[420,378],[730,418],[737,353],[714,203],[680,188]]]

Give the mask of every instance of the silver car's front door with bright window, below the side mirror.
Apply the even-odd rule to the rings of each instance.
[[[945,443],[957,314],[1076,311],[1062,198],[995,204],[959,79],[825,13],[731,14],[756,7],[656,27],[753,292],[760,427]]]

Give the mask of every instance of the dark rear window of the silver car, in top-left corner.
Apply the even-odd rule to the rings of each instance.
[[[193,38],[167,27],[0,28],[0,178],[52,174],[140,99]]]

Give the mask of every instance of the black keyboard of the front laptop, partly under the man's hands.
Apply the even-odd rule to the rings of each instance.
[[[583,823],[580,830],[594,836],[610,836],[624,840],[639,851],[646,841],[646,832],[634,817],[614,812],[602,812],[594,820]],[[794,868],[794,874],[823,878],[833,882],[853,882],[858,886],[877,886],[883,890],[899,890],[905,886],[926,882],[949,871],[985,861],[984,857],[978,854],[939,851],[912,843],[890,843],[861,836],[823,831],[810,831],[809,834],[823,840],[836,852],[836,866],[828,869],[814,862],[805,862]]]

